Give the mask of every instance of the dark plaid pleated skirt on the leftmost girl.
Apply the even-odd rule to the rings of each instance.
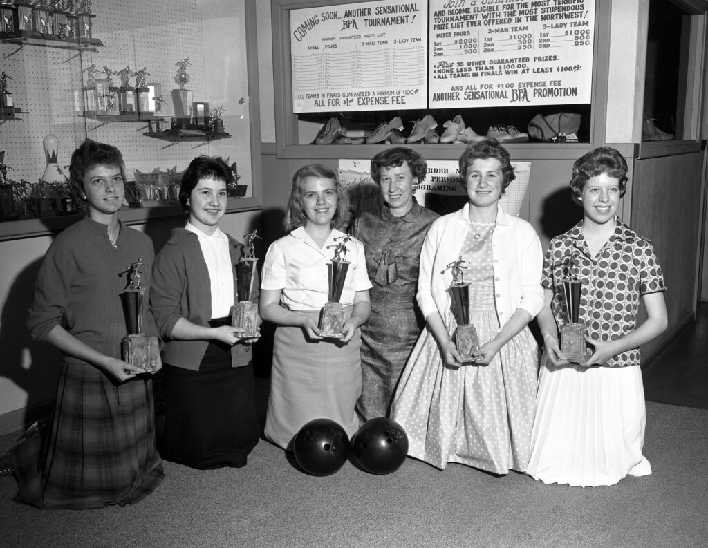
[[[16,500],[38,508],[136,503],[164,478],[155,448],[152,379],[126,382],[64,363],[47,428],[11,450]]]

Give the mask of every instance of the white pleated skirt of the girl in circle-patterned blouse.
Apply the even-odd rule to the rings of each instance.
[[[645,424],[639,366],[555,367],[544,355],[526,473],[581,487],[651,474]]]

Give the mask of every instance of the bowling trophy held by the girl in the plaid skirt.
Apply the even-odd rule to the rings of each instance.
[[[142,333],[142,315],[145,304],[145,290],[140,287],[141,266],[147,266],[139,258],[135,263],[127,266],[128,287],[120,295],[125,312],[125,326],[128,334],[123,337],[123,360],[140,373],[152,372],[150,363],[150,338]]]

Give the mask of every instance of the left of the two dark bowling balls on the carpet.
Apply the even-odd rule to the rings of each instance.
[[[349,436],[329,418],[316,418],[299,429],[292,442],[297,464],[313,476],[329,476],[349,456]]]

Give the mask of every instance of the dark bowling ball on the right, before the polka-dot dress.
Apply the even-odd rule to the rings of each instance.
[[[371,474],[395,472],[408,455],[408,435],[390,418],[370,418],[352,438],[352,450],[363,469]]]

